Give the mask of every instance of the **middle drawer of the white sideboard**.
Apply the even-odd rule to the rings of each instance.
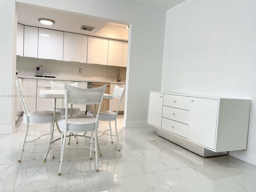
[[[189,121],[189,111],[173,107],[163,106],[162,116],[184,124],[188,124]]]

